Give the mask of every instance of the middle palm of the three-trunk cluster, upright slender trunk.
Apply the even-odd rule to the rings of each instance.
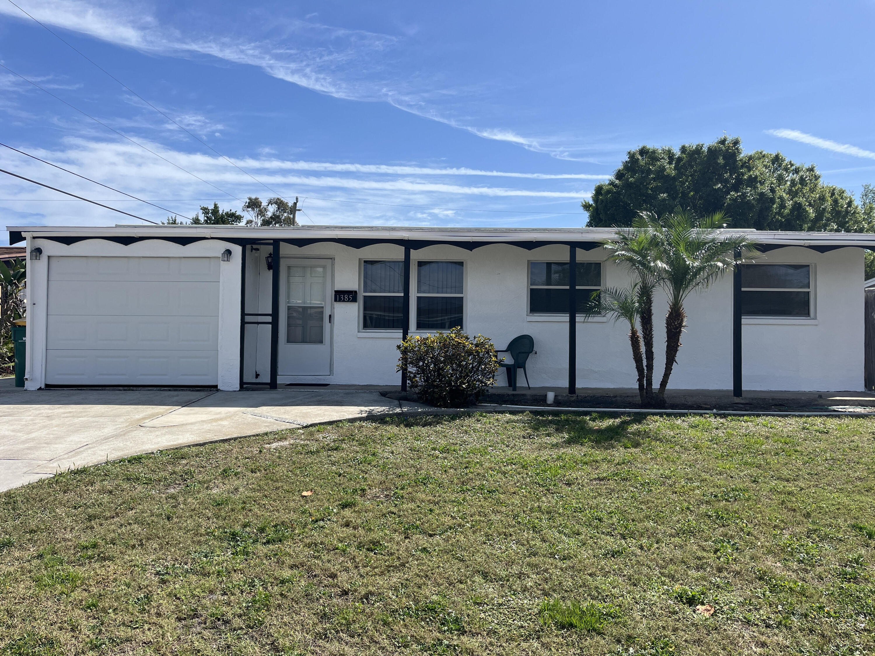
[[[653,404],[654,392],[654,291],[659,285],[660,275],[654,257],[652,223],[655,221],[655,214],[642,212],[635,218],[632,228],[618,228],[615,239],[602,244],[612,254],[611,259],[626,264],[635,277],[633,290],[644,342],[642,405]]]

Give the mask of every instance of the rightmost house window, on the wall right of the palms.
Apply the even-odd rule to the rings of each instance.
[[[811,265],[742,264],[741,314],[809,318]]]

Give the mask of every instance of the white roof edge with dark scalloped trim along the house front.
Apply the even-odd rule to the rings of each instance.
[[[255,241],[285,241],[297,245],[333,241],[353,247],[374,243],[395,243],[410,248],[432,244],[452,244],[469,250],[488,244],[507,243],[521,248],[538,248],[548,244],[578,242],[580,248],[597,248],[602,241],[611,240],[615,231],[606,227],[546,227],[546,228],[493,228],[493,227],[387,227],[387,226],[299,226],[299,227],[246,227],[246,226],[143,226],[117,225],[90,226],[23,226],[7,227],[10,243],[33,236],[62,243],[86,239],[107,239],[132,243],[144,239],[160,239],[176,243],[191,243],[217,239],[238,244]],[[835,248],[859,247],[875,249],[875,234],[858,233],[798,233],[757,231],[753,229],[726,229],[725,234],[746,234],[763,250],[786,246],[801,246],[827,251]]]

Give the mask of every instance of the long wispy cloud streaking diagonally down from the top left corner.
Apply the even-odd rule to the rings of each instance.
[[[442,88],[422,75],[400,73],[403,38],[370,31],[347,30],[308,19],[283,19],[283,34],[248,38],[239,34],[192,34],[160,24],[144,13],[144,5],[104,0],[41,0],[22,3],[45,24],[77,31],[141,52],[175,57],[206,56],[256,66],[280,80],[322,94],[355,101],[384,101],[403,111],[444,122],[482,138],[513,143],[552,157],[584,161],[579,149],[557,136],[522,136],[512,129],[477,127],[475,118],[458,120],[446,102],[464,103],[459,89]],[[0,14],[30,20],[10,3]],[[315,15],[310,15],[315,17]],[[482,86],[482,85],[480,85]],[[465,96],[462,93],[462,96]]]

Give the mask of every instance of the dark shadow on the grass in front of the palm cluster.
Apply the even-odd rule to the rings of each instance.
[[[608,422],[603,423],[606,419]],[[641,437],[646,435],[640,427],[646,420],[646,415],[593,414],[535,416],[528,423],[538,432],[552,432],[563,437],[566,444],[592,444],[603,449],[613,449],[617,446],[641,446]]]

